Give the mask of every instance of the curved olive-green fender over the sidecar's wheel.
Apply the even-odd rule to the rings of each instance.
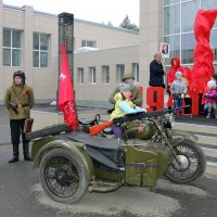
[[[88,180],[92,180],[92,178],[94,177],[94,167],[93,167],[92,159],[87,154],[85,150],[85,144],[79,143],[79,142],[74,142],[69,140],[67,141],[53,140],[53,141],[48,142],[38,151],[38,153],[34,157],[34,167],[39,167],[40,159],[44,153],[49,152],[49,150],[56,149],[56,148],[66,149],[68,150],[68,152],[72,152],[76,154],[77,156],[79,156],[80,161],[82,162],[85,166]]]

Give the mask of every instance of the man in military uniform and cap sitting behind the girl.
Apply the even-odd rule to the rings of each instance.
[[[125,74],[124,77],[123,77],[123,82],[126,82],[130,86],[131,93],[132,93],[131,100],[132,100],[133,104],[141,106],[142,105],[142,95],[141,95],[140,89],[135,85],[133,75],[131,73]],[[117,92],[120,92],[119,87],[115,88],[115,90],[110,95],[110,102],[112,104],[116,103],[115,94]]]

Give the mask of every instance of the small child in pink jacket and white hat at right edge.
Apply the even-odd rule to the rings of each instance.
[[[206,118],[210,118],[212,110],[214,111],[214,117],[217,118],[217,99],[216,99],[216,81],[209,80],[207,82],[207,92],[205,94],[206,105],[208,113]]]

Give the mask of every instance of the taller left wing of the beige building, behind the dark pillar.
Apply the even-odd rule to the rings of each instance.
[[[7,5],[0,0],[0,104],[3,104],[5,90],[17,69],[26,73],[36,102],[48,103],[56,99],[58,23],[58,15],[34,11],[29,5]],[[75,50],[81,47],[102,50],[139,43],[138,33],[130,30],[80,20],[75,20],[74,28]]]

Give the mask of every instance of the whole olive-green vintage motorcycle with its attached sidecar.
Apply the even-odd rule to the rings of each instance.
[[[52,200],[72,204],[87,191],[152,188],[163,175],[176,183],[196,180],[205,170],[205,155],[195,136],[173,129],[168,112],[113,119],[125,129],[122,139],[113,138],[110,130],[99,132],[105,124],[100,124],[99,114],[92,120],[80,120],[76,131],[63,124],[27,133],[42,188]],[[91,137],[89,132],[95,129],[98,135]]]

